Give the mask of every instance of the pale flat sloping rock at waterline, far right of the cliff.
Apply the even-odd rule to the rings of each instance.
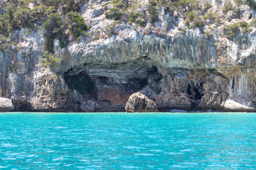
[[[230,99],[225,102],[224,109],[229,112],[255,112],[256,111],[256,108],[242,105]]]

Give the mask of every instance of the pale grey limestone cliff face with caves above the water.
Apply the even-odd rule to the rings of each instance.
[[[125,111],[129,96],[138,91],[159,111],[256,111],[256,29],[240,28],[232,39],[222,29],[250,23],[256,12],[242,5],[239,16],[222,14],[225,2],[212,2],[212,11],[224,18],[220,25],[189,29],[183,14],[159,8],[158,22],[146,27],[119,22],[108,36],[106,26],[114,20],[105,18],[103,6],[112,5],[89,1],[80,10],[92,26],[88,37],[70,40],[62,49],[54,41],[54,56],[62,59],[57,71],[40,66],[40,29],[16,31],[12,39],[18,45],[0,50],[0,96],[13,100],[16,111],[82,111],[88,101],[96,112]],[[146,3],[139,1],[137,11]]]

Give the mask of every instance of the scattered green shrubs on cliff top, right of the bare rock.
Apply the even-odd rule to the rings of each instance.
[[[201,32],[207,36],[207,39],[211,39],[213,36],[213,28],[205,29],[205,25],[217,25],[221,26],[223,30],[226,30],[228,25],[224,24],[227,13],[230,11],[234,13],[233,17],[239,19],[240,18],[240,6],[241,5],[249,5],[253,8],[256,8],[256,3],[251,0],[236,0],[235,3],[231,1],[216,1],[214,3],[218,3],[218,6],[223,6],[220,9],[223,14],[218,14],[213,11],[212,3],[210,2],[200,2],[197,0],[177,0],[177,1],[167,1],[167,0],[148,0],[148,4],[146,7],[142,7],[140,1],[124,1],[124,0],[112,0],[110,8],[104,6],[105,16],[107,19],[120,20],[121,22],[132,24],[135,23],[134,29],[137,29],[138,25],[141,27],[145,27],[148,23],[151,24],[149,29],[155,27],[155,23],[159,21],[159,17],[163,15],[169,14],[173,18],[173,25],[178,27],[180,19],[184,19],[184,25],[187,26],[188,29],[199,28]],[[164,14],[162,12],[164,11]],[[245,21],[243,24],[235,24],[238,25],[237,30],[235,32],[230,33],[229,28],[227,31],[224,31],[224,36],[228,39],[232,39],[233,36],[237,35],[240,32],[240,29],[243,33],[250,33],[250,26],[254,26],[253,23],[245,25]],[[244,26],[245,25],[245,26]],[[156,36],[164,37],[166,36],[166,32],[170,29],[170,25],[166,25],[164,27],[164,31],[155,30],[153,33]],[[154,29],[152,29],[154,30]],[[146,31],[146,34],[150,34],[152,31]],[[180,32],[185,34],[185,30],[180,29]],[[162,35],[161,35],[162,34]]]

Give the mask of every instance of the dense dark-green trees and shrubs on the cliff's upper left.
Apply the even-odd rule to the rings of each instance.
[[[0,3],[0,48],[8,48],[14,41],[10,40],[12,32],[28,28],[36,29],[43,25],[45,49],[53,51],[53,39],[60,41],[63,47],[67,37],[72,35],[76,39],[89,28],[79,15],[81,5],[87,0],[5,0]]]

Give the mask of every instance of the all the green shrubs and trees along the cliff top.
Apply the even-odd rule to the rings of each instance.
[[[114,19],[112,25],[106,27],[106,36],[115,34],[114,28],[117,23],[134,23],[134,29],[138,26],[146,27],[145,34],[155,33],[156,36],[165,37],[170,25],[166,24],[164,29],[157,29],[154,25],[160,17],[169,14],[172,25],[178,27],[179,22],[183,22],[188,29],[199,28],[208,39],[211,39],[213,29],[205,29],[205,25],[224,24],[222,21],[229,11],[234,13],[234,17],[239,19],[239,9],[241,5],[249,5],[256,9],[256,3],[252,0],[216,1],[214,3],[223,4],[221,10],[223,15],[216,14],[212,10],[213,4],[210,2],[200,2],[197,0],[148,0],[146,5],[141,5],[141,1],[112,0],[110,4],[102,2],[106,19]],[[84,18],[79,14],[80,7],[88,3],[88,0],[3,0],[0,2],[0,49],[8,49],[10,45],[16,45],[12,41],[13,31],[28,28],[29,33],[32,29],[42,28],[44,40],[44,50],[53,52],[53,40],[59,40],[59,45],[63,48],[68,44],[68,40],[80,39],[86,36],[85,32],[90,29],[85,25]],[[93,4],[93,2],[92,2]],[[108,4],[108,5],[106,5]],[[182,19],[181,19],[182,18]],[[180,20],[181,19],[181,20]],[[241,24],[223,25],[224,36],[232,39],[240,30],[243,33],[251,32],[250,27],[255,27],[255,19],[250,24],[243,21]],[[111,29],[111,30],[110,30]],[[179,28],[185,34],[184,28]],[[97,34],[97,32],[95,33]],[[103,36],[104,37],[104,36]],[[98,37],[99,38],[99,37]],[[97,37],[95,37],[97,40]]]

